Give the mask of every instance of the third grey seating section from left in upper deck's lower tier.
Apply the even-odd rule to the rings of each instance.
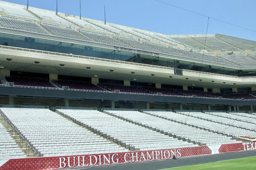
[[[121,46],[121,47],[125,47],[128,48],[129,46],[117,41],[115,39],[112,39],[110,36],[107,35],[102,35],[100,33],[93,33],[93,32],[86,32],[86,31],[80,31],[80,33],[82,33],[83,35],[90,37],[90,39],[99,42],[101,44],[107,44],[107,45],[113,45],[113,46]]]

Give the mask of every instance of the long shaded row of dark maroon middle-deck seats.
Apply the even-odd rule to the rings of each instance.
[[[6,81],[14,83],[13,87],[20,88],[40,88],[49,90],[60,90],[62,87],[69,87],[70,91],[91,91],[91,92],[110,92],[123,94],[140,94],[140,95],[162,95],[162,96],[182,96],[182,97],[198,97],[205,99],[232,99],[232,100],[256,100],[255,93],[251,94],[218,94],[212,92],[200,91],[183,91],[183,90],[165,90],[161,88],[148,87],[132,87],[121,86],[116,84],[92,84],[90,82],[81,82],[75,80],[51,80],[44,78],[29,78],[18,76],[6,76]],[[0,80],[0,86],[4,86]]]

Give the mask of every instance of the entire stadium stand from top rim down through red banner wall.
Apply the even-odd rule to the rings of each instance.
[[[255,41],[0,5],[1,170],[255,150]]]

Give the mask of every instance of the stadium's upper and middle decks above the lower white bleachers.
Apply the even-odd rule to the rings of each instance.
[[[255,41],[163,35],[4,1],[0,14],[2,105],[256,109]]]

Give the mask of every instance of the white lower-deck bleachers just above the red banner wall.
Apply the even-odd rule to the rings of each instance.
[[[240,143],[235,140],[240,136],[256,137],[256,116],[249,113],[95,108],[62,108],[56,112],[0,108],[0,112],[33,156],[215,146]],[[1,123],[0,130],[0,160],[26,158]]]

